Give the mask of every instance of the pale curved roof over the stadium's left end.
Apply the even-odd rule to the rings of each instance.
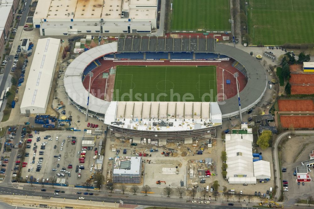
[[[68,96],[78,105],[86,108],[88,91],[82,83],[82,74],[86,66],[98,57],[117,51],[117,42],[100,45],[80,54],[71,62],[64,74],[64,87]],[[89,110],[105,114],[110,102],[94,96],[89,97]]]

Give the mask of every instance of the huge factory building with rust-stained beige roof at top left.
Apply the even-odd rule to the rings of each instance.
[[[157,17],[158,0],[39,0],[33,25],[41,35],[150,33]]]

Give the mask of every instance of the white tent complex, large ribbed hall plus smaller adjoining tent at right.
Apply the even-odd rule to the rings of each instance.
[[[227,176],[229,184],[256,184],[257,179],[270,179],[270,163],[253,160],[252,129],[241,124],[241,130],[232,130],[236,134],[226,134]],[[254,162],[253,162],[254,161]]]

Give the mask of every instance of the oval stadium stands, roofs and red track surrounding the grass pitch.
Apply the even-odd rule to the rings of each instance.
[[[225,96],[206,103],[114,101],[106,90],[114,83],[111,74],[116,66],[123,65],[216,66],[217,93]],[[133,142],[145,137],[159,144],[192,143],[215,137],[216,127],[223,120],[239,116],[235,72],[239,73],[242,112],[254,108],[267,88],[265,71],[257,60],[244,51],[215,43],[214,39],[123,38],[85,51],[69,64],[64,77],[70,103],[85,114],[89,79],[84,75],[90,71],[94,77],[88,115],[110,126],[112,136]],[[93,81],[98,84],[94,86]]]

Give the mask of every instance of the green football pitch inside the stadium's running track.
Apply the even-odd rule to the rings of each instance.
[[[115,101],[215,102],[215,66],[118,66]]]

